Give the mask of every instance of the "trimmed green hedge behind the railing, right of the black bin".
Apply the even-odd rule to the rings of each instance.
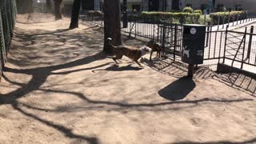
[[[210,14],[210,18],[212,18],[212,24],[218,25],[229,22],[234,22],[237,20],[242,20],[243,18],[247,18],[247,14],[244,11],[231,11],[231,12],[218,12],[214,14]],[[219,23],[218,23],[219,18]]]

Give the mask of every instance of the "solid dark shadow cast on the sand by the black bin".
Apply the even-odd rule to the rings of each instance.
[[[166,86],[162,90],[158,91],[158,94],[162,98],[166,98],[170,101],[178,101],[186,98],[188,94],[195,88],[193,78],[183,77],[177,81],[172,82],[169,86]]]

